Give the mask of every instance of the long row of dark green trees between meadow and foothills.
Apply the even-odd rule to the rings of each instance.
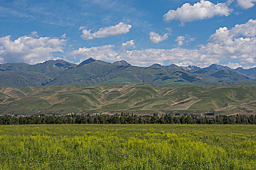
[[[256,124],[256,116],[0,116],[0,124]]]

